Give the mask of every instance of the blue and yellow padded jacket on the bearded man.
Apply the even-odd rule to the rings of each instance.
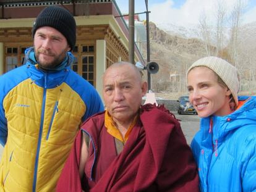
[[[103,111],[90,83],[70,70],[25,65],[0,76],[0,191],[54,191],[79,125]]]

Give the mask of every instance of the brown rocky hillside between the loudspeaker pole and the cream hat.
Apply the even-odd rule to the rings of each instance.
[[[194,61],[207,56],[203,41],[169,35],[152,22],[150,22],[150,39],[153,40],[150,42],[151,61],[160,65],[159,72],[151,75],[151,88],[156,92],[186,91],[186,70]],[[146,49],[146,46],[144,48]],[[173,78],[170,78],[171,76]],[[176,85],[173,85],[174,83]]]

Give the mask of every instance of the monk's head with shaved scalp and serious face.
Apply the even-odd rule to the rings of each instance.
[[[142,82],[139,72],[130,65],[109,67],[103,77],[103,99],[115,122],[134,119],[147,93],[147,83]]]

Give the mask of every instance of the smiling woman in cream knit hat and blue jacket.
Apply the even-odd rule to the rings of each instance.
[[[201,191],[256,190],[256,98],[237,97],[237,69],[204,57],[187,71],[189,100],[200,130],[191,147]]]

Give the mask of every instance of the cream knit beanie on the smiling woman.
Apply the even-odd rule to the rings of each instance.
[[[208,67],[213,70],[221,80],[228,86],[229,90],[233,94],[234,101],[236,106],[238,105],[237,93],[240,88],[239,83],[239,73],[237,72],[236,67],[229,64],[229,62],[219,58],[219,57],[203,57],[192,64],[187,70],[187,74],[194,67]]]

